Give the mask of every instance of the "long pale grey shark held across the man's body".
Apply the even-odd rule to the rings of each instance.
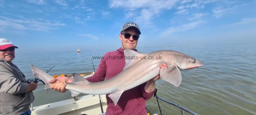
[[[123,71],[111,79],[102,82],[91,83],[81,77],[79,74],[73,74],[74,82],[66,83],[66,89],[72,93],[72,96],[77,96],[80,93],[84,94],[109,94],[108,97],[114,102],[115,106],[126,90],[145,83],[157,75],[160,79],[171,83],[174,86],[179,86],[181,83],[180,70],[189,70],[196,67],[201,67],[204,64],[197,59],[186,54],[173,50],[159,50],[151,53],[139,53],[134,50],[125,49],[125,67]],[[160,65],[166,64],[168,67]],[[50,87],[49,80],[52,76],[40,70],[34,65],[31,65],[33,75],[38,76],[44,83],[45,89]]]

